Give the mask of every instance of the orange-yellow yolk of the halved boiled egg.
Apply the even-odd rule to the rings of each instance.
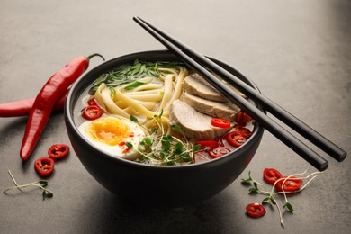
[[[103,118],[87,125],[86,132],[97,141],[115,146],[130,136],[130,126],[119,119]]]

